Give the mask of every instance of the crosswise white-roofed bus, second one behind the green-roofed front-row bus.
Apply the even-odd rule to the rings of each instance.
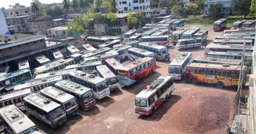
[[[68,67],[68,66],[67,66]],[[51,71],[49,73],[43,73],[37,75],[34,79],[39,80],[43,78],[51,78],[55,76],[62,76],[62,79],[69,79],[69,73],[76,71],[76,69],[64,69],[64,70],[58,70],[58,71]]]

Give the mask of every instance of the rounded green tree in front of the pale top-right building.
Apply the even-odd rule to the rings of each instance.
[[[223,9],[223,4],[218,3],[218,4],[210,4],[209,7],[209,15],[210,17],[214,19],[219,19],[222,17],[221,11]]]

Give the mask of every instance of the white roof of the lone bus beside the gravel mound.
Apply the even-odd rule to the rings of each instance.
[[[160,76],[149,85],[147,85],[136,97],[148,98],[150,95],[156,92],[166,81],[171,79],[171,76]]]

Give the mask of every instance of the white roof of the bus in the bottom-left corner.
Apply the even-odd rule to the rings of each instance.
[[[0,114],[16,134],[22,134],[22,132],[29,128],[36,128],[35,123],[28,119],[28,117],[15,105],[9,105],[1,108]],[[13,115],[16,114],[17,117],[13,118]]]

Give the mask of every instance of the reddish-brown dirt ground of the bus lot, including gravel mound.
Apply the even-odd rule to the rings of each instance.
[[[192,27],[192,26],[191,26]],[[202,28],[202,27],[200,27]],[[207,44],[221,36],[206,27]],[[215,85],[196,84],[185,80],[174,81],[175,90],[151,116],[135,114],[135,96],[150,82],[161,75],[168,75],[168,65],[182,51],[174,45],[169,48],[171,60],[156,62],[152,76],[143,78],[139,85],[120,86],[89,111],[79,110],[59,128],[48,125],[30,116],[37,127],[48,134],[221,134],[231,124],[237,105],[234,100],[237,88],[218,89]],[[192,52],[193,59],[202,56],[204,49],[184,50]]]

